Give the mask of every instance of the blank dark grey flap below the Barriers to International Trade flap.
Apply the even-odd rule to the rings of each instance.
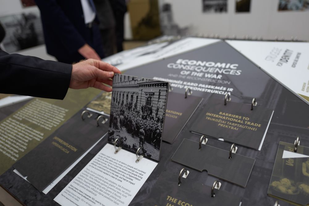
[[[172,161],[191,167],[209,175],[246,187],[255,160],[230,151],[203,145],[199,150],[199,143],[184,139],[171,158]]]

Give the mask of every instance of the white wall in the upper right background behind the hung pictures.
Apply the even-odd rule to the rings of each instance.
[[[202,0],[159,0],[171,3],[174,21],[180,27],[193,26],[191,34],[243,36],[274,40],[309,40],[309,11],[280,11],[279,0],[251,0],[250,13],[235,13],[235,0],[228,0],[227,13],[203,13]]]

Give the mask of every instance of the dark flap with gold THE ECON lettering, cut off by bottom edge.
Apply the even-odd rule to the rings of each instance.
[[[202,174],[201,174],[202,175]],[[219,190],[214,189],[214,197],[211,197],[212,184],[204,185],[190,178],[181,178],[178,186],[178,173],[164,171],[154,185],[150,198],[144,203],[136,205],[194,205],[194,206],[239,206],[241,198],[224,190],[224,182]],[[160,191],[160,192],[158,192]]]

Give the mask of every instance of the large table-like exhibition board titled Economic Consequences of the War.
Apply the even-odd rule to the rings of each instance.
[[[128,65],[111,94],[0,108],[9,146],[21,144],[17,124],[40,132],[27,123],[36,105],[68,113],[1,167],[0,185],[24,205],[306,205],[307,45],[194,37],[109,57]]]

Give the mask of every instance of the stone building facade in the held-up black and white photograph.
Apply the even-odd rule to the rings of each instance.
[[[154,120],[162,120],[167,102],[167,84],[147,78],[115,75],[112,102],[119,106],[130,104],[131,110],[139,111],[140,115],[150,112]]]

